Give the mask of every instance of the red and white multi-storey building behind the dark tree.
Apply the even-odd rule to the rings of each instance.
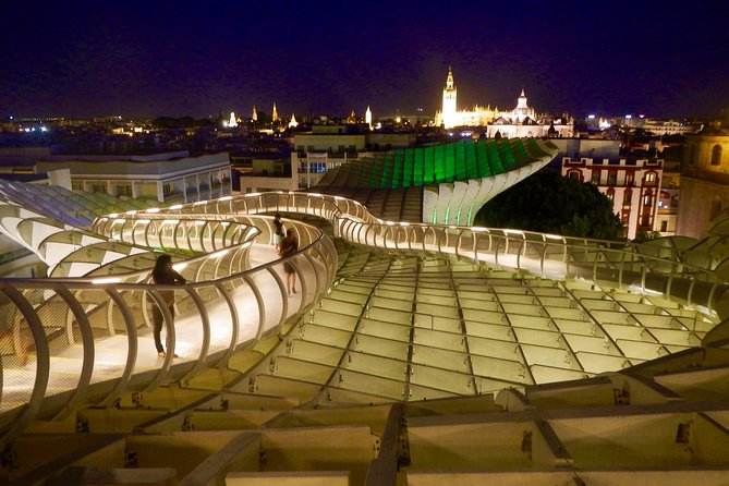
[[[641,231],[653,231],[658,215],[663,160],[562,158],[562,175],[591,182],[612,201],[613,212],[634,240]]]

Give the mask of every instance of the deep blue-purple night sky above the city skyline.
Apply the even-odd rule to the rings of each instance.
[[[414,113],[717,116],[722,2],[7,1],[0,117]]]

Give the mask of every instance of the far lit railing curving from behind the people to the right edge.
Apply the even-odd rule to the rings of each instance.
[[[282,210],[321,217],[336,236],[394,251],[453,255],[528,271],[545,278],[580,278],[596,284],[659,294],[712,314],[729,289],[710,268],[646,255],[625,242],[509,229],[384,221],[361,204],[308,193],[260,193],[197,203],[199,212],[255,214]],[[720,318],[728,316],[720,315]]]

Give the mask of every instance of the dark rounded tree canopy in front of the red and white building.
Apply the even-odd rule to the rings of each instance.
[[[612,202],[591,183],[544,169],[486,203],[474,226],[623,240]]]

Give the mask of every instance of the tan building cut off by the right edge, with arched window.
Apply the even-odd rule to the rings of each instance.
[[[700,238],[729,207],[729,134],[703,132],[687,137],[681,168],[681,201],[676,233]]]

